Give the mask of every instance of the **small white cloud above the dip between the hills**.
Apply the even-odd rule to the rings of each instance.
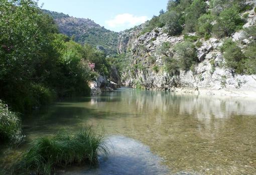
[[[105,21],[110,28],[134,27],[149,20],[147,16],[136,17],[132,14],[119,14],[113,19]]]

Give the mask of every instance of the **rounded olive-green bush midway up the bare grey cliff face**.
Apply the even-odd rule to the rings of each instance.
[[[197,53],[193,43],[185,41],[176,44],[174,50],[178,56],[179,67],[188,71],[190,67],[198,62]]]

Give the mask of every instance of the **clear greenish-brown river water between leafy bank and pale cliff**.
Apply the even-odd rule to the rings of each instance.
[[[118,160],[126,165],[136,162],[138,167],[134,171],[144,168],[145,172],[147,167],[153,167],[147,162],[140,168],[141,164],[135,159],[144,157],[148,161],[154,155],[157,156],[152,160],[154,169],[164,169],[155,174],[166,173],[167,169],[168,174],[256,174],[255,99],[121,88],[116,92],[57,102],[47,109],[36,110],[24,120],[24,131],[26,139],[32,140],[60,128],[76,131],[88,124],[104,126],[107,136],[114,135],[115,138],[117,135],[117,140],[124,142],[118,142],[119,148],[125,142],[139,145],[129,149],[129,161],[125,161],[125,157]],[[135,154],[132,151],[150,151],[152,155],[142,153],[133,159]],[[79,167],[79,170],[72,168],[67,174],[127,172],[110,160],[107,162],[108,173],[90,173]],[[150,170],[145,174],[151,172],[154,174]]]

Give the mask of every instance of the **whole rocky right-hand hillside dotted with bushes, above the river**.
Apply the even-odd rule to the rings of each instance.
[[[256,96],[255,1],[188,2],[169,1],[143,28],[119,34],[118,52],[129,60],[123,84]]]

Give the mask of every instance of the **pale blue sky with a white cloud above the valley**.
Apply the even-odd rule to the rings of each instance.
[[[39,0],[43,9],[88,18],[112,31],[130,29],[166,10],[168,0]]]

